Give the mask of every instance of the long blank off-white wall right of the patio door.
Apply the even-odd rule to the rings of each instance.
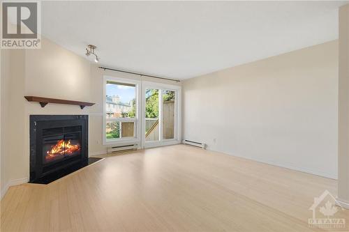
[[[184,139],[337,177],[338,41],[188,79]]]

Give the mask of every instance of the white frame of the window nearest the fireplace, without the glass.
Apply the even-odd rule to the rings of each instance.
[[[108,118],[106,116],[106,98],[105,95],[107,93],[106,86],[107,82],[119,82],[125,84],[135,84],[135,104],[136,104],[136,115],[135,118]],[[111,77],[111,76],[103,76],[103,145],[119,145],[119,144],[130,144],[130,143],[139,143],[140,142],[140,130],[141,130],[141,101],[140,96],[142,93],[142,82],[135,79],[126,79],[121,77]],[[120,139],[107,139],[106,136],[106,123],[107,121],[134,121],[135,122],[135,137],[133,138],[120,138]]]

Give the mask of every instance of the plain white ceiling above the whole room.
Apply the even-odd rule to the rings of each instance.
[[[186,79],[338,38],[348,1],[43,1],[42,33],[100,64]]]

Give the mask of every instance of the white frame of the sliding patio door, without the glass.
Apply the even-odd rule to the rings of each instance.
[[[161,90],[175,91],[175,107],[174,107],[174,139],[162,139],[162,131],[159,133],[161,138],[159,141],[145,141],[145,90],[146,88],[156,88]],[[159,101],[162,93],[159,93]],[[160,104],[161,106],[161,104]],[[176,86],[172,84],[162,84],[156,82],[142,82],[142,148],[151,148],[156,146],[165,146],[171,144],[181,143],[181,86]],[[161,115],[161,108],[159,108],[159,115]],[[161,123],[162,118],[159,118],[159,124]]]

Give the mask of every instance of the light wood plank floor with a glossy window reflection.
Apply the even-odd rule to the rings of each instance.
[[[10,187],[1,231],[313,231],[309,207],[324,190],[336,195],[336,180],[166,146]],[[349,224],[348,210],[336,216]]]

